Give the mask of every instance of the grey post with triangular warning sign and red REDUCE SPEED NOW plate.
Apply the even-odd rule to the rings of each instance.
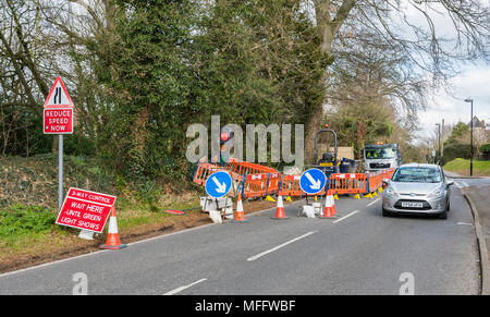
[[[58,134],[58,209],[63,202],[63,134],[73,133],[73,101],[58,76],[46,98],[42,115],[45,134]]]

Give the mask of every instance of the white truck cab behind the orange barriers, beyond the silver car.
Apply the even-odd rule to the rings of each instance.
[[[402,164],[397,144],[368,144],[363,149],[363,159],[365,171],[392,169]]]

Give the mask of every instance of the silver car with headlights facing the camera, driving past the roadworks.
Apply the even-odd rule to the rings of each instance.
[[[448,218],[453,180],[436,164],[403,164],[391,180],[383,180],[383,216],[391,214],[427,214]]]

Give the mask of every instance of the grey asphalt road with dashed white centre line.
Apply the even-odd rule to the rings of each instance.
[[[381,217],[379,197],[335,200],[338,218],[297,204],[0,276],[0,294],[478,294],[473,218],[457,186],[448,220]],[[246,208],[246,205],[245,205]],[[76,276],[75,276],[76,277]]]

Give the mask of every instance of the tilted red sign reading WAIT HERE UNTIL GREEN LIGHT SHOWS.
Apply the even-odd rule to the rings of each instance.
[[[114,203],[115,196],[71,187],[56,223],[101,233]]]

